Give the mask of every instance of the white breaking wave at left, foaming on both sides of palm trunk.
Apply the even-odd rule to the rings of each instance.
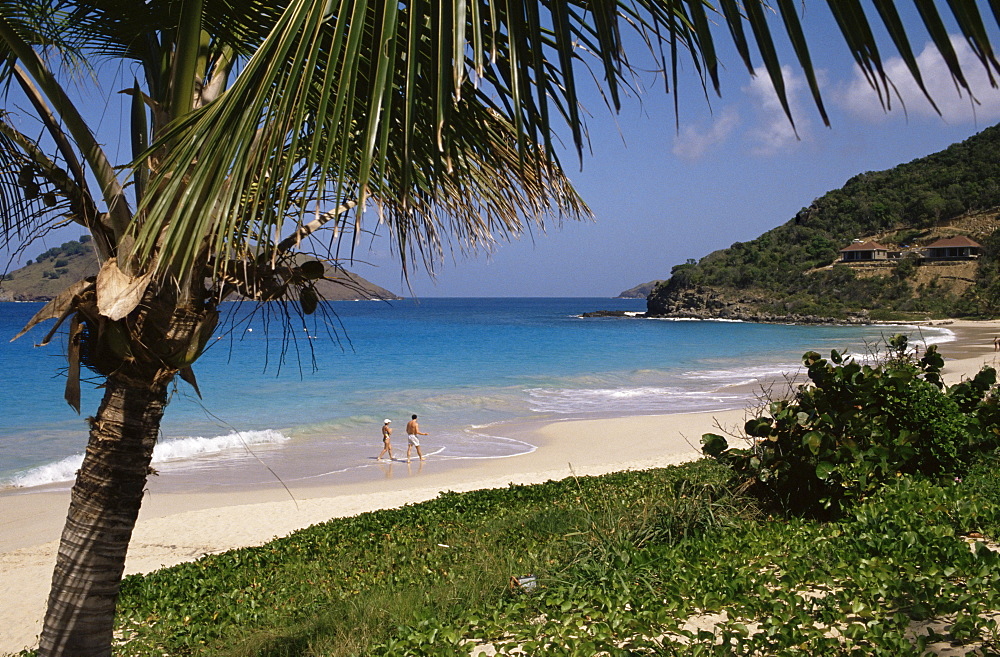
[[[277,445],[287,442],[288,438],[279,431],[267,429],[264,431],[243,431],[202,438],[175,438],[157,443],[153,449],[153,463],[166,463],[200,456],[212,456],[234,449],[245,449],[259,445]],[[7,481],[0,481],[0,488],[28,488],[43,486],[62,481],[71,481],[76,477],[76,471],[83,463],[83,454],[74,454],[54,463],[32,468],[15,475]]]

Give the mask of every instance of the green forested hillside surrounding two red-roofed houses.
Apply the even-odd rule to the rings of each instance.
[[[1000,126],[887,171],[857,175],[785,224],[671,271],[648,314],[808,321],[1000,314]],[[837,263],[840,249],[874,240],[915,256],[964,235],[978,260],[878,267]]]

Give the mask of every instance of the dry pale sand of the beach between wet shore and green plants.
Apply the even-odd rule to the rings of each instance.
[[[934,322],[955,332],[942,346],[953,384],[996,367],[1000,321]],[[538,483],[681,463],[700,456],[706,432],[735,432],[746,411],[636,416],[525,426],[537,449],[461,467],[393,463],[370,481],[335,486],[272,485],[239,493],[169,492],[150,482],[126,563],[127,573],[156,570],[215,552],[259,545],[330,518],[399,507],[443,491]],[[433,436],[428,437],[428,443]],[[0,495],[0,654],[37,645],[68,491]]]

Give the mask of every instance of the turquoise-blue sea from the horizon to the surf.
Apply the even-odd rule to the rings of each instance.
[[[64,338],[35,346],[50,322],[10,342],[39,308],[0,303],[0,490],[9,492],[70,485],[101,395],[85,381],[80,415],[63,401]],[[899,332],[580,317],[644,309],[602,298],[345,301],[286,328],[274,305],[226,304],[194,368],[203,397],[178,382],[154,467],[193,487],[357,477],[376,467],[384,419],[405,453],[413,413],[430,434],[428,462],[509,458],[535,449],[517,430],[526,424],[745,407],[756,382],[799,371],[805,351],[861,357]],[[945,329],[913,337],[953,339]]]

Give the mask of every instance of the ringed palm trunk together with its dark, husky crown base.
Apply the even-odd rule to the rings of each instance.
[[[196,289],[195,292],[198,290]],[[115,605],[153,447],[177,372],[215,327],[211,302],[179,305],[176,291],[150,288],[112,322],[91,293],[77,297],[70,352],[105,376],[97,415],[70,498],[40,637],[40,655],[109,655]],[[202,291],[202,294],[204,292]],[[129,340],[120,340],[127,335]],[[127,347],[122,349],[122,344]]]

